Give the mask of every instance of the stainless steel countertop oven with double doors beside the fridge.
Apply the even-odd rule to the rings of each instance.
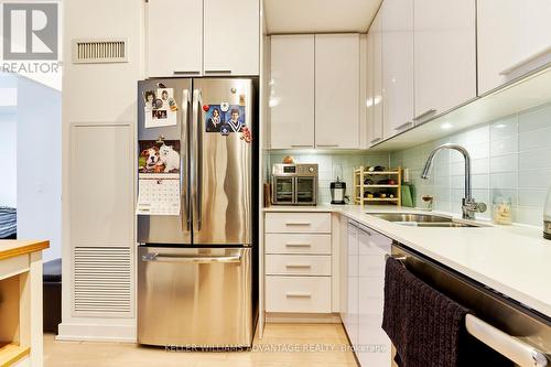
[[[272,204],[316,205],[317,164],[273,164]]]

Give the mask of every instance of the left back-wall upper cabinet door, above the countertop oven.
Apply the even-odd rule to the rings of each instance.
[[[272,149],[314,148],[314,36],[271,36]]]

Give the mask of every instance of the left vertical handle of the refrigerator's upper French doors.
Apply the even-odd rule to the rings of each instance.
[[[181,154],[181,160],[180,160],[180,185],[181,185],[180,201],[185,212],[182,215],[182,227],[187,228],[187,230],[191,230],[192,228],[192,212],[190,211],[190,179],[188,179],[190,173],[187,172],[188,171],[187,153],[183,147],[184,143],[187,141],[187,126],[190,122],[190,114],[188,114],[190,101],[191,101],[190,90],[184,89],[182,91],[182,127],[181,127],[182,130],[180,132],[180,139],[181,139],[180,145],[182,147],[181,151],[183,152]]]

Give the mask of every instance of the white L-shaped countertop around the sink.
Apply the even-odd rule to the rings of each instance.
[[[264,212],[331,212],[366,225],[496,291],[551,317],[551,240],[541,228],[523,225],[478,228],[409,227],[380,219],[370,213],[432,213],[396,206],[317,205],[272,206]]]

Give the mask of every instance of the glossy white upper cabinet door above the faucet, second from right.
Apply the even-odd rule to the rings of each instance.
[[[476,97],[475,28],[475,0],[414,0],[415,123]]]

